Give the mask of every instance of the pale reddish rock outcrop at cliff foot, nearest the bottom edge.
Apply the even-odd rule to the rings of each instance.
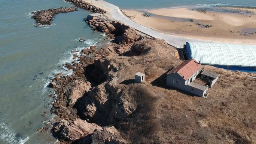
[[[80,138],[92,134],[95,129],[102,130],[102,128],[95,123],[88,123],[85,120],[77,119],[67,122],[62,119],[58,125],[52,129],[54,134],[58,135],[60,141],[76,141]]]

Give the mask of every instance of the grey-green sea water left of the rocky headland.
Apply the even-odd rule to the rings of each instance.
[[[54,91],[47,85],[56,73],[72,73],[63,68],[73,61],[70,50],[103,43],[104,36],[83,20],[90,12],[82,9],[56,15],[50,26],[34,27],[30,12],[63,6],[73,5],[0,0],[0,144],[55,143],[51,132],[36,131],[54,117],[49,97]],[[78,42],[81,37],[85,42]]]

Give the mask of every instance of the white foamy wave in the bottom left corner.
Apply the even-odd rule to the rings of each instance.
[[[0,123],[0,140],[6,141],[8,144],[24,144],[29,137],[20,138],[17,134],[5,123]]]

